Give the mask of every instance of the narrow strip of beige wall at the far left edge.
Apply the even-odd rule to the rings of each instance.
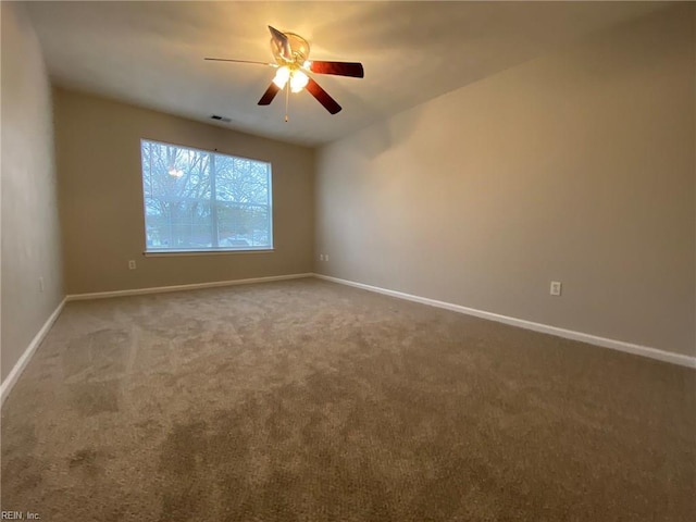
[[[48,76],[23,7],[2,2],[0,12],[4,381],[61,302],[63,282]]]

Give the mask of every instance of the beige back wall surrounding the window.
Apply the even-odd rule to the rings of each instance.
[[[54,99],[69,294],[312,271],[311,149],[63,89]],[[270,161],[275,250],[144,257],[141,138]]]

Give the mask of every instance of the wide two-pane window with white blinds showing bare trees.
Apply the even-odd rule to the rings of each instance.
[[[271,164],[140,140],[147,252],[273,248]]]

